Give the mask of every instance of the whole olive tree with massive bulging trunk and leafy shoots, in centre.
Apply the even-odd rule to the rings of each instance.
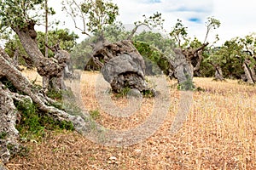
[[[101,68],[103,77],[110,83],[113,92],[119,93],[124,88],[136,88],[140,92],[150,90],[145,80],[145,63],[141,54],[133,46],[131,38],[139,26],[156,26],[162,22],[161,14],[143,15],[143,21],[135,22],[135,28],[123,41],[109,42],[105,31],[109,25],[114,25],[119,14],[117,5],[105,0],[85,0],[76,3],[74,0],[63,1],[63,9],[73,18],[74,25],[85,35],[98,35],[93,46],[91,59]],[[80,28],[77,17],[82,20]]]

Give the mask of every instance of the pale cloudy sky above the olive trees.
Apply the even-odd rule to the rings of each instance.
[[[61,1],[60,1],[61,2]],[[244,37],[256,32],[256,1],[253,0],[112,0],[119,6],[118,20],[123,24],[133,24],[143,19],[143,14],[150,16],[155,12],[165,19],[164,29],[170,32],[177,23],[183,21],[188,27],[189,37],[197,37],[201,42],[206,36],[206,21],[214,17],[221,22],[217,30],[210,32],[208,42],[214,42],[215,35],[220,38],[218,44],[223,44],[233,37]],[[61,12],[61,4],[49,0],[49,6],[55,8],[55,17],[65,20],[65,26],[79,35],[79,41],[84,35],[73,26],[73,20]]]

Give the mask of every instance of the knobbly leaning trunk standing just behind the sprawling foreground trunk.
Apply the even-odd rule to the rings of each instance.
[[[38,74],[43,77],[43,89],[46,93],[49,89],[60,90],[65,89],[63,82],[64,69],[66,63],[70,59],[67,51],[60,48],[55,51],[54,58],[46,58],[38,48],[36,40],[37,32],[34,30],[35,23],[30,21],[24,28],[15,27],[13,30],[20,38],[20,42],[24,47],[29,59],[32,60],[37,67]]]

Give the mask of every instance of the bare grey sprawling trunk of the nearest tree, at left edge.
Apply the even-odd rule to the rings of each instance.
[[[15,128],[18,119],[18,113],[14,105],[15,100],[27,99],[38,105],[40,111],[55,120],[72,122],[74,128],[80,133],[86,131],[88,128],[86,117],[73,116],[54,106],[49,106],[53,105],[55,100],[49,99],[41,94],[37,88],[34,88],[32,83],[12,65],[11,59],[5,54],[3,48],[0,48],[0,68],[0,133],[2,137],[6,136],[6,138],[0,139],[0,159],[3,162],[9,161],[11,154],[18,151],[20,147],[18,143],[19,133]],[[7,79],[17,90],[26,95],[11,92],[8,87],[3,85],[3,79]],[[88,115],[86,112],[84,114]],[[12,150],[8,147],[9,144],[12,144]]]

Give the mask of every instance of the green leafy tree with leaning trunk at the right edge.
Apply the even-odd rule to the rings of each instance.
[[[208,63],[221,68],[224,77],[241,78],[255,83],[255,37],[236,37],[210,51]]]

